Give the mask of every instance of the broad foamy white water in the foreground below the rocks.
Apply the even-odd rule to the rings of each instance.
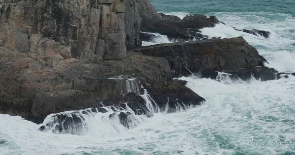
[[[295,151],[295,77],[261,82],[185,78],[207,99],[178,113],[156,113],[137,128],[93,122],[85,135],[38,131],[20,117],[0,115],[3,155],[276,155]],[[101,114],[103,115],[103,114]],[[101,120],[101,116],[97,115]]]

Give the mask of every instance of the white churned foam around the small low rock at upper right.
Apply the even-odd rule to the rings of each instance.
[[[295,71],[295,18],[281,13],[212,13],[226,25],[218,24],[212,28],[201,29],[202,34],[210,37],[220,36],[243,38],[269,62],[266,66],[275,68],[281,72]],[[270,31],[270,37],[254,36],[252,34],[236,31],[237,29],[256,28]]]

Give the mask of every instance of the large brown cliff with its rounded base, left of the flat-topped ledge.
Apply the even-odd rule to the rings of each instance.
[[[127,52],[141,44],[137,5],[136,0],[4,0],[0,113],[42,123],[51,113],[99,108],[101,102],[134,103],[135,109],[143,92],[126,98],[127,78],[141,79],[160,109],[168,99],[171,105],[205,101],[172,79],[164,58]],[[179,90],[184,93],[177,95]]]

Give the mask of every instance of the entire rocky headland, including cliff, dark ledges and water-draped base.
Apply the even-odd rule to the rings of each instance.
[[[134,128],[205,101],[175,77],[286,77],[241,37],[140,47],[141,30],[187,40],[217,23],[158,14],[149,0],[0,0],[0,113],[56,133],[83,134],[97,115]]]

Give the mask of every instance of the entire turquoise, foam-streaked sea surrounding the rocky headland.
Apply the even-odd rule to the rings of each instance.
[[[295,72],[294,0],[150,0],[158,12],[214,15],[226,25],[201,29],[209,37],[242,36],[280,72]],[[270,37],[234,30],[256,28]],[[144,45],[172,42],[161,34]],[[223,73],[219,73],[223,74]],[[137,116],[126,129],[93,116],[80,135],[42,132],[19,116],[0,114],[0,155],[295,155],[295,77],[221,82],[182,77],[202,105]]]

